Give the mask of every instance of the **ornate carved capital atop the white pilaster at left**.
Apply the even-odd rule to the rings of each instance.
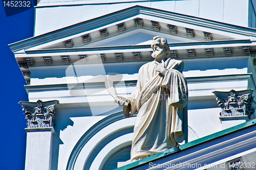
[[[20,101],[23,112],[26,114],[28,128],[49,128],[54,125],[55,109],[58,100],[42,102]]]

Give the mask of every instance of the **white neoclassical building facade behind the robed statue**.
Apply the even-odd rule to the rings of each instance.
[[[106,83],[130,95],[154,36],[184,61],[188,143],[120,169],[255,164],[253,1],[50,0],[35,11],[34,37],[10,45],[28,83],[25,169],[114,169],[130,159],[136,115],[123,116]]]

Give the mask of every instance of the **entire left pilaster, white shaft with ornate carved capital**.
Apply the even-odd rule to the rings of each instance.
[[[42,102],[20,101],[28,121],[25,169],[50,170],[55,109],[58,100]]]

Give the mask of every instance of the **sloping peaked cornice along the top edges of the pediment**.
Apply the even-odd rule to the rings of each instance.
[[[172,22],[176,23],[193,25],[193,27],[195,28],[202,27],[206,30],[214,29],[217,31],[232,33],[236,34],[237,37],[256,37],[256,29],[224,24],[208,19],[202,19],[198,17],[192,17],[188,15],[177,14],[174,12],[167,12],[153,8],[134,6],[98,18],[87,20],[85,22],[78,23],[69,27],[61,28],[46,34],[15,42],[14,44],[10,44],[9,46],[13,52],[16,52],[19,50],[29,49],[42,44],[46,44],[57,39],[63,39],[65,41],[69,40],[71,36],[75,36],[77,34],[86,34],[86,32],[89,33],[90,31],[99,28],[104,28],[111,24],[123,23],[123,20],[129,18],[136,18],[136,16],[138,16],[139,14],[141,14],[140,16],[151,16],[153,18],[172,20]]]

